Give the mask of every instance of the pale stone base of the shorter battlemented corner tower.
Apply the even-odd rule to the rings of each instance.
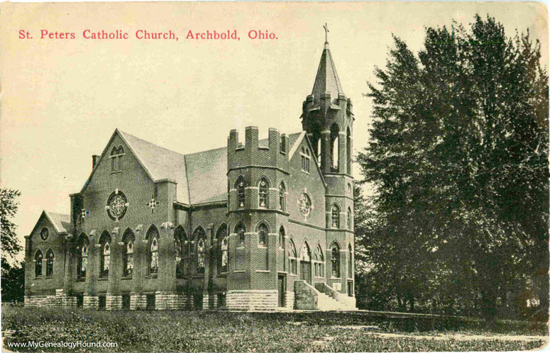
[[[229,310],[277,310],[277,291],[229,291]]]

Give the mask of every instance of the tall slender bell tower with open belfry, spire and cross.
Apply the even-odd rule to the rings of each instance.
[[[326,259],[339,259],[339,269],[331,268],[326,284],[346,293],[355,306],[353,280],[353,105],[343,93],[329,48],[326,24],[325,43],[312,94],[302,104],[302,130],[316,150],[317,162],[326,181]],[[337,262],[338,263],[338,262]]]

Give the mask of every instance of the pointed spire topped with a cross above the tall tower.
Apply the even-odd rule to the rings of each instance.
[[[330,92],[331,98],[334,99],[338,98],[339,94],[343,94],[343,89],[336,73],[331,50],[329,49],[329,28],[326,26],[326,23],[323,28],[325,31],[324,50],[321,55],[321,62],[319,62],[319,69],[317,69],[317,77],[315,77],[312,95],[316,99],[319,99],[321,94]]]

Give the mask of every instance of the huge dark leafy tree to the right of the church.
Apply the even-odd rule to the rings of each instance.
[[[358,155],[375,189],[370,242],[385,255],[373,254],[373,271],[411,306],[469,298],[492,316],[497,297],[534,281],[547,308],[549,101],[539,42],[507,38],[480,16],[468,29],[427,28],[417,55],[394,39],[369,83],[374,122]]]

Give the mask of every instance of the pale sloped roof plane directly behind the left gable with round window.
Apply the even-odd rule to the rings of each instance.
[[[167,150],[151,142],[136,138],[136,136],[119,130],[122,138],[141,160],[143,167],[148,170],[155,180],[174,179],[177,182],[177,201],[189,203],[189,191],[185,169],[185,156]]]

